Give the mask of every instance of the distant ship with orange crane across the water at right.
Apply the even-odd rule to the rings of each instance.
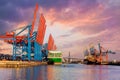
[[[108,64],[108,54],[115,54],[111,50],[104,49],[98,43],[98,50],[91,46],[89,49],[84,50],[84,64]]]

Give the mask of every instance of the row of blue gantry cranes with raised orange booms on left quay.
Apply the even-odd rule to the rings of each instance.
[[[48,50],[56,50],[52,35],[50,35],[46,48],[43,48],[46,31],[46,20],[43,14],[40,14],[38,30],[34,31],[37,11],[38,4],[36,4],[32,25],[24,27],[17,33],[14,31],[7,32],[6,35],[0,36],[0,38],[5,38],[5,42],[13,45],[13,60],[16,60],[16,58],[20,56],[22,60],[42,61],[44,57],[47,57]],[[26,35],[23,35],[23,32],[25,32]]]

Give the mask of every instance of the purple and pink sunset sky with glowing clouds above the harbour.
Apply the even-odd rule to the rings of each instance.
[[[46,36],[52,33],[57,49],[64,56],[83,58],[83,51],[100,42],[105,49],[115,51],[110,58],[120,56],[120,0],[0,0],[0,34],[32,23],[36,3],[39,14],[46,19]],[[4,45],[5,47],[3,47]],[[0,51],[11,52],[0,41]]]

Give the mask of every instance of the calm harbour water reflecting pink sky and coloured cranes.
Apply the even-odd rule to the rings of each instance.
[[[0,80],[120,80],[120,66],[63,64],[0,68]]]

